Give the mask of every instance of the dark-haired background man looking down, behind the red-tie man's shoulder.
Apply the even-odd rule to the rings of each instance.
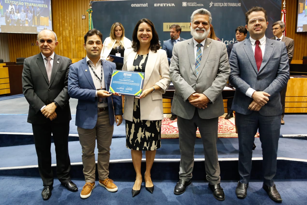
[[[247,36],[247,29],[244,26],[238,26],[235,29],[235,39],[237,41],[235,41],[234,43],[231,43],[231,44],[228,45],[228,47],[227,47],[228,59],[229,59],[229,56],[230,56],[231,49],[232,49],[233,45],[235,43],[244,41],[246,36]],[[233,117],[233,110],[231,109],[232,100],[233,100],[233,98],[227,99],[227,115],[225,116],[226,120],[230,119],[231,117]]]

